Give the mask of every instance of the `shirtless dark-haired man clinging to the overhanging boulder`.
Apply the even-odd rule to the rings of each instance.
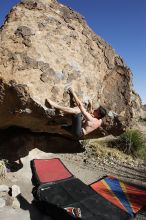
[[[72,114],[72,125],[62,127],[72,133],[76,138],[80,139],[101,126],[102,118],[106,116],[107,111],[102,106],[98,109],[92,110],[91,103],[89,103],[90,111],[87,111],[72,88],[68,89],[68,93],[74,98],[77,105],[76,107],[63,107],[50,99],[47,99],[46,101],[55,109],[61,110],[67,114]]]

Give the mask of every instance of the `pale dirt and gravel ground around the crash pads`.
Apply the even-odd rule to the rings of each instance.
[[[139,124],[139,129],[146,136],[146,125]],[[15,133],[15,132],[14,132]],[[6,137],[3,134],[3,137]],[[18,136],[18,135],[17,135]],[[27,141],[24,141],[26,140]],[[45,140],[45,141],[44,141]],[[98,140],[99,141],[99,140]],[[23,143],[23,144],[22,144]],[[66,167],[81,179],[84,183],[90,184],[105,175],[113,175],[128,183],[146,187],[146,167],[144,161],[124,155],[117,149],[110,149],[102,144],[95,144],[97,140],[74,141],[66,140],[58,136],[45,136],[44,134],[32,135],[29,132],[20,133],[19,138],[11,135],[9,143],[6,138],[1,141],[1,146],[23,145],[23,150],[14,148],[14,153],[22,158],[23,168],[17,172],[8,173],[0,184],[19,185],[22,194],[20,201],[21,208],[13,209],[5,206],[0,208],[0,219],[11,220],[49,220],[43,216],[32,204],[32,183],[30,161],[32,159],[60,158]],[[17,159],[17,157],[15,158]],[[146,219],[145,211],[137,216],[136,219]]]

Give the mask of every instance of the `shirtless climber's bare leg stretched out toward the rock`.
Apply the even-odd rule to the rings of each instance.
[[[57,104],[56,102],[53,102],[52,100],[50,99],[46,99],[46,101],[54,108],[60,110],[60,111],[63,111],[67,114],[78,114],[80,113],[80,109],[75,107],[75,108],[70,108],[70,107],[64,107],[64,106],[61,106],[59,104]]]

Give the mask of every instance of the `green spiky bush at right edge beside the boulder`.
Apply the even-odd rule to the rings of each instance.
[[[146,159],[146,140],[138,130],[127,130],[120,138],[120,147],[127,154]]]

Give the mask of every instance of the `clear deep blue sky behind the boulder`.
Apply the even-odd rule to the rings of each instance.
[[[0,25],[20,0],[0,0]],[[123,57],[136,92],[146,104],[146,0],[59,0],[82,14],[89,26]]]

